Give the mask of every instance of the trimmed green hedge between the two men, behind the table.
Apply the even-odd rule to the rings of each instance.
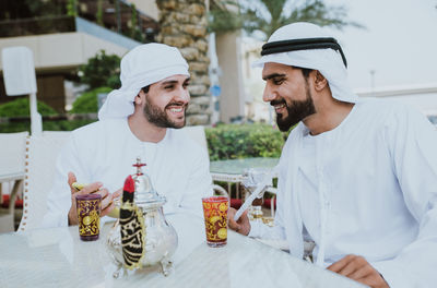
[[[221,124],[205,129],[210,160],[280,157],[284,134],[268,124]]]

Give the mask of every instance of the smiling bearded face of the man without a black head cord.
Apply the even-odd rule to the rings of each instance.
[[[185,112],[190,100],[189,80],[186,75],[173,75],[150,85],[143,108],[150,123],[160,128],[185,127]]]

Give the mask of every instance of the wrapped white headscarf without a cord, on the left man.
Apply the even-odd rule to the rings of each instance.
[[[121,87],[107,96],[98,119],[125,118],[133,113],[133,100],[144,86],[172,75],[187,75],[188,63],[179,50],[164,44],[144,44],[121,59]]]

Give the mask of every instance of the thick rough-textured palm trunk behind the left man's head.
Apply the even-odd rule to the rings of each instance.
[[[191,101],[187,110],[187,124],[210,124],[205,1],[156,0],[156,4],[161,25],[157,40],[178,47],[190,65]]]

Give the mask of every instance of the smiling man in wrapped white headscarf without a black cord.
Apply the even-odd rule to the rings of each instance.
[[[99,121],[73,131],[58,158],[44,226],[76,225],[78,194],[102,194],[107,215],[137,157],[167,199],[164,213],[202,216],[200,199],[212,194],[209,157],[178,130],[190,100],[187,61],[175,47],[145,44],[128,52],[120,68],[121,87],[108,95]],[[75,192],[75,181],[90,184]]]

